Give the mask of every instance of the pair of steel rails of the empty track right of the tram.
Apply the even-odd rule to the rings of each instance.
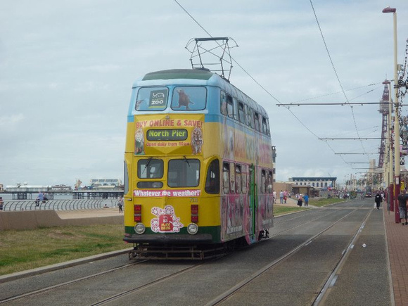
[[[362,206],[363,205],[361,205],[359,208],[361,208]],[[259,278],[265,272],[267,272],[267,271],[269,271],[271,269],[274,269],[274,267],[276,267],[276,265],[280,264],[284,260],[288,260],[288,258],[292,257],[295,253],[297,253],[299,250],[301,250],[305,246],[310,245],[310,243],[312,243],[315,239],[317,239],[319,236],[324,234],[326,231],[329,231],[329,229],[336,226],[336,224],[343,221],[343,219],[345,219],[346,217],[352,215],[352,213],[359,210],[359,208],[353,209],[352,212],[349,212],[347,215],[345,215],[342,218],[338,219],[338,221],[334,222],[329,227],[326,227],[325,229],[323,229],[319,233],[317,233],[314,236],[312,236],[311,238],[307,239],[307,241],[304,241],[299,246],[297,246],[297,247],[293,248],[292,250],[290,250],[288,253],[282,255],[281,257],[279,257],[278,259],[274,260],[273,262],[267,264],[266,266],[262,267],[261,269],[258,269],[257,272],[255,272],[254,274],[248,276],[246,279],[244,279],[240,283],[237,283],[236,286],[233,286],[228,291],[225,291],[221,295],[218,295],[216,298],[214,298],[213,300],[211,300],[210,302],[205,304],[205,306],[222,305],[223,302],[225,302],[229,298],[233,297],[235,294],[237,294],[239,291],[241,291],[242,288],[244,288],[245,286],[248,286],[248,284],[253,282],[255,279]],[[321,302],[321,300],[323,300],[324,295],[326,294],[327,288],[329,288],[329,286],[331,286],[331,284],[333,282],[333,279],[336,276],[336,272],[341,267],[341,264],[343,264],[345,258],[347,257],[347,255],[349,253],[348,251],[350,250],[350,248],[352,248],[352,243],[354,243],[354,241],[357,240],[357,237],[358,237],[359,233],[361,233],[362,227],[364,227],[366,219],[369,217],[372,210],[373,209],[371,208],[369,210],[369,212],[366,214],[366,216],[364,217],[362,225],[359,227],[359,229],[357,230],[355,235],[352,236],[351,242],[348,244],[348,248],[346,248],[343,251],[343,253],[340,255],[340,258],[338,259],[338,262],[336,262],[335,266],[333,267],[333,270],[332,270],[331,274],[328,276],[327,280],[324,283],[324,286],[321,288],[321,290],[319,291],[319,294],[316,296],[316,298],[314,299],[314,301],[312,302],[311,305],[317,306],[317,305],[319,305],[319,302]],[[291,229],[293,229],[293,228],[291,228]],[[281,234],[281,233],[279,233],[279,234]]]

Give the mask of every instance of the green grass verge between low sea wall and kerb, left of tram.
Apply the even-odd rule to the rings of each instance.
[[[129,248],[123,225],[0,231],[0,275]]]

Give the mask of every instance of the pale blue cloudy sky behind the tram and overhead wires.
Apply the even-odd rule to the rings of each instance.
[[[238,43],[231,54],[250,77],[234,65],[231,83],[269,113],[277,180],[330,174],[343,181],[362,171],[345,162],[378,160],[341,158],[331,148],[376,152],[379,140],[331,141],[330,148],[318,139],[357,137],[356,126],[360,136],[381,136],[378,105],[353,113],[349,106],[300,106],[291,113],[274,98],[342,103],[346,94],[350,102],[379,102],[381,82],[393,78],[393,16],[381,11],[397,8],[403,63],[407,1],[312,1],[340,83],[310,1],[178,2],[213,37]],[[190,68],[184,47],[208,36],[176,1],[6,0],[0,8],[5,185],[122,178],[132,83],[147,72]],[[341,87],[354,90],[343,94]]]

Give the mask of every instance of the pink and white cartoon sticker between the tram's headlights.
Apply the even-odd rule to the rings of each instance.
[[[172,205],[165,206],[164,209],[154,207],[151,213],[157,218],[151,219],[151,230],[155,233],[178,233],[184,225],[177,218]]]

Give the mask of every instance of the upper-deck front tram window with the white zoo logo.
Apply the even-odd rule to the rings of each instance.
[[[167,87],[141,87],[137,92],[135,110],[165,110],[167,107]]]

